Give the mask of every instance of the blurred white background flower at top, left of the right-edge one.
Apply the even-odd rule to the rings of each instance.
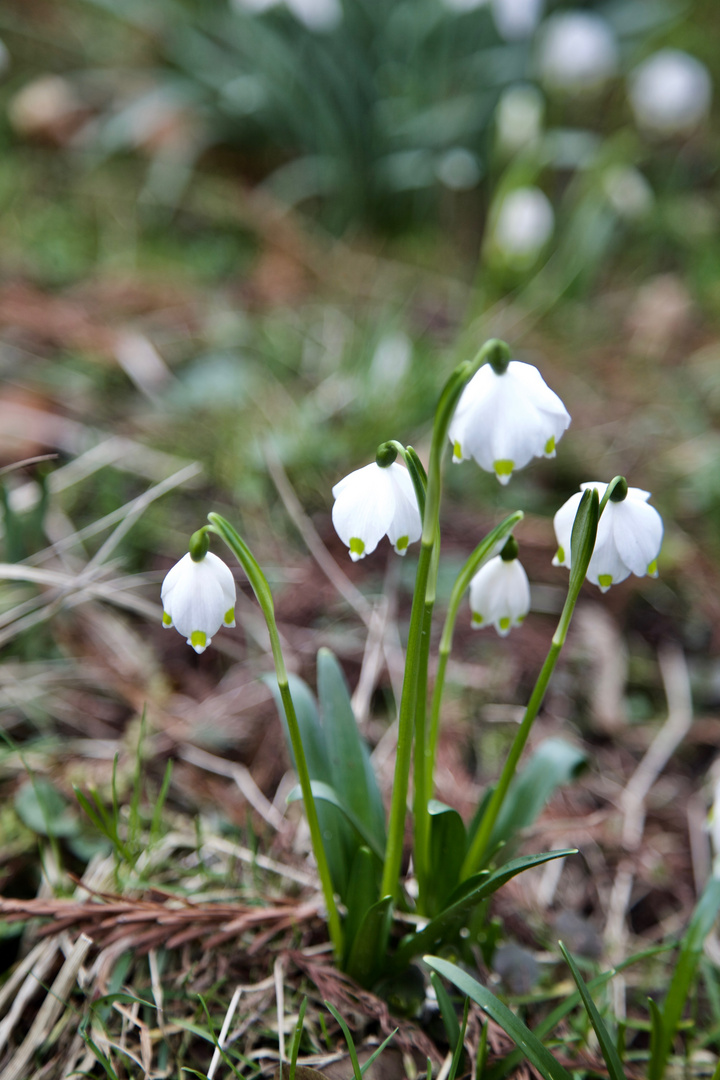
[[[617,43],[610,24],[588,11],[553,15],[540,38],[538,65],[555,90],[600,89],[617,69]]]

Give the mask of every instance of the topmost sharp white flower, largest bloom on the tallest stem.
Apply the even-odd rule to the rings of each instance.
[[[503,375],[484,364],[462,392],[448,434],[452,460],[475,458],[506,484],[514,469],[555,457],[570,415],[536,367],[512,360]]]

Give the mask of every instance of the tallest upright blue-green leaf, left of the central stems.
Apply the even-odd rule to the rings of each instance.
[[[370,755],[357,730],[342,669],[329,649],[317,653],[317,698],[330,768],[330,785],[384,852],[385,810]]]

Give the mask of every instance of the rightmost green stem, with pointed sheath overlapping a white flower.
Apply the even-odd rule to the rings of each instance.
[[[507,795],[507,789],[512,783],[513,777],[515,775],[517,762],[519,761],[520,755],[525,750],[528,735],[530,734],[532,725],[538,716],[540,706],[543,703],[543,698],[545,697],[545,691],[547,690],[547,684],[551,680],[557,659],[560,656],[566,637],[568,636],[568,629],[570,626],[570,620],[572,619],[572,612],[578,602],[578,597],[580,596],[580,590],[582,589],[583,581],[585,580],[587,566],[593,555],[593,549],[595,548],[598,516],[598,494],[597,490],[593,488],[592,490],[584,492],[578,508],[575,522],[572,528],[572,569],[570,571],[568,595],[560,615],[560,620],[553,635],[553,642],[540,675],[538,676],[538,681],[535,683],[532,693],[530,694],[530,701],[528,702],[528,706],[525,711],[522,723],[520,724],[515,739],[513,740],[510,754],[507,755],[507,760],[503,766],[500,780],[498,781],[498,786],[490,796],[490,801],[488,802],[487,809],[483,814],[483,820],[480,821],[478,829],[473,837],[470,850],[465,855],[465,861],[460,872],[461,880],[464,880],[470,877],[471,874],[475,874],[477,870],[481,869],[484,860],[489,854],[488,849],[492,837],[492,829],[495,821],[498,820],[498,814],[500,813],[500,809],[503,805],[505,796]]]

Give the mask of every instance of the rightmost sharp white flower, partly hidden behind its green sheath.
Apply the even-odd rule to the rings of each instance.
[[[581,484],[581,491],[571,496],[560,507],[554,518],[558,550],[554,566],[570,569],[570,539],[572,526],[582,498],[582,491],[597,488],[602,499],[608,487],[597,481]],[[624,581],[630,573],[642,578],[649,573],[657,577],[657,556],[663,543],[663,518],[654,507],[648,505],[650,491],[628,487],[622,502],[609,500],[598,522],[595,550],[587,567],[587,580],[607,593],[610,585]]]

